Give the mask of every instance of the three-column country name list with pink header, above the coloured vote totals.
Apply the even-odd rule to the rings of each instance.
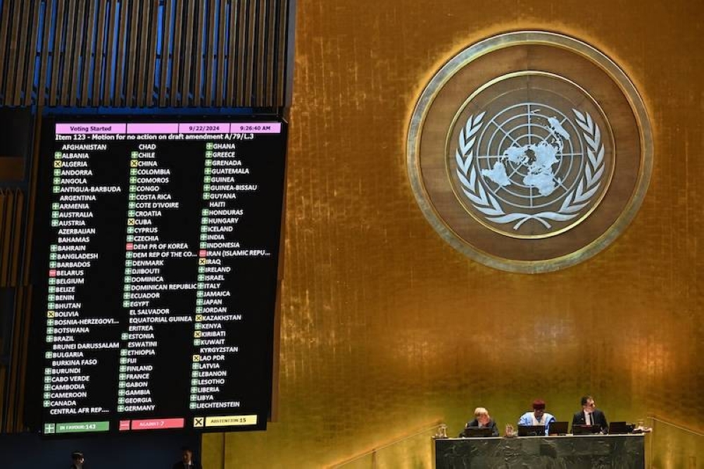
[[[241,301],[248,273],[239,261],[269,260],[277,249],[252,235],[267,188],[247,144],[280,128],[56,125],[44,415],[139,419],[246,406],[232,363],[249,346],[244,324],[256,311]]]

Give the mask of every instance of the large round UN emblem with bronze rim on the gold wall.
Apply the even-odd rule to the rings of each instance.
[[[503,270],[584,261],[627,227],[652,168],[639,94],[576,39],[517,32],[462,51],[422,92],[408,172],[429,222]]]

